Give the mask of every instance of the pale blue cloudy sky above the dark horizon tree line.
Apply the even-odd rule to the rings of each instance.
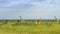
[[[60,0],[0,0],[0,19],[60,19]]]

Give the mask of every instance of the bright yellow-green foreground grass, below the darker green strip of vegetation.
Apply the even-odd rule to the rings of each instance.
[[[60,34],[60,25],[37,25],[37,26],[0,26],[0,34]]]

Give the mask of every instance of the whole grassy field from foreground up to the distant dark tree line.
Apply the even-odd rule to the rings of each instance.
[[[2,21],[3,23],[4,21]],[[9,21],[8,24],[0,24],[0,34],[60,34],[60,24],[54,21],[42,21],[45,24],[34,24],[27,21],[24,25],[9,24],[17,21]]]

